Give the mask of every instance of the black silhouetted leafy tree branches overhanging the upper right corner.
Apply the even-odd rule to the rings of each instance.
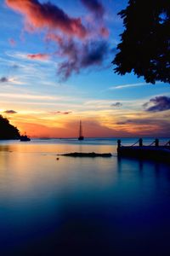
[[[170,2],[129,0],[118,15],[125,31],[112,63],[115,73],[135,73],[147,83],[170,83]]]

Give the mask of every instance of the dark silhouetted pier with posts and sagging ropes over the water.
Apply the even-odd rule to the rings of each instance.
[[[161,160],[170,162],[170,141],[165,145],[160,145],[156,139],[150,145],[144,145],[143,139],[140,138],[137,143],[131,146],[122,146],[121,140],[117,141],[117,154],[120,157],[134,157],[147,160]]]

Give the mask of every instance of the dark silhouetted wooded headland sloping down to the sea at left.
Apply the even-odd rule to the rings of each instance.
[[[0,140],[19,139],[20,131],[0,114]]]

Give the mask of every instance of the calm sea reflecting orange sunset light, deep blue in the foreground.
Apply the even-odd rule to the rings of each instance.
[[[113,156],[57,156],[75,151]],[[116,139],[0,142],[0,255],[169,256],[169,237],[167,164],[118,160]]]

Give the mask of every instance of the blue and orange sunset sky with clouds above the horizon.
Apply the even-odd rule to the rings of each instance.
[[[0,1],[0,113],[31,137],[170,136],[170,87],[113,72],[127,0]],[[135,22],[135,20],[134,20]]]

